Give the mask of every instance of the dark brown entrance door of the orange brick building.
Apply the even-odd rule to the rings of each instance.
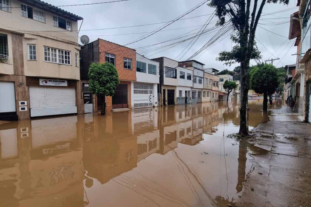
[[[127,108],[128,107],[128,84],[119,84],[114,91],[112,97],[112,108]]]

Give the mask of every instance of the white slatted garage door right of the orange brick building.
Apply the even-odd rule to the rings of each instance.
[[[134,83],[134,108],[153,106],[153,84]]]

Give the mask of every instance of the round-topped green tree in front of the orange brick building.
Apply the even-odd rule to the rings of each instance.
[[[101,115],[106,114],[105,96],[113,96],[119,81],[119,75],[114,65],[105,63],[92,63],[89,68],[89,89],[97,95]]]

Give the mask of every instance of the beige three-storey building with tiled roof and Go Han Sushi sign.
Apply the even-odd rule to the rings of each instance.
[[[0,19],[0,119],[83,113],[82,17],[39,0],[2,0]]]

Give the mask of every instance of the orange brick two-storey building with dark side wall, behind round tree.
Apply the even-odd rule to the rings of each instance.
[[[106,111],[113,109],[132,107],[132,83],[136,81],[136,51],[134,49],[118,45],[103,39],[97,39],[81,48],[81,80],[83,80],[83,90],[88,92],[88,70],[92,62],[113,64],[119,75],[120,84],[117,86],[114,96],[105,97]],[[83,86],[82,86],[83,87]],[[96,110],[96,103],[93,106]]]

